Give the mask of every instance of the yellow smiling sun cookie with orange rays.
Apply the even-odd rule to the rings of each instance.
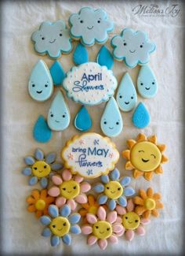
[[[161,164],[168,161],[168,158],[163,154],[165,145],[157,143],[156,135],[147,138],[140,133],[136,141],[129,139],[127,143],[129,150],[122,152],[123,157],[128,160],[125,169],[133,169],[135,179],[144,176],[146,180],[151,180],[153,173],[163,173]]]

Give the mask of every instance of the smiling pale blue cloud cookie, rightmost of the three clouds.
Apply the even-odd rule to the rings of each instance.
[[[150,54],[155,50],[154,43],[148,39],[145,32],[125,28],[121,35],[111,39],[113,57],[118,61],[125,61],[125,65],[134,68],[136,65],[145,65],[150,60]]]

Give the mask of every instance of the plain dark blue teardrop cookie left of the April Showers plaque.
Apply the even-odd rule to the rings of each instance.
[[[53,83],[56,86],[60,86],[65,78],[66,74],[63,71],[63,68],[59,61],[55,61],[53,65],[50,67],[50,73],[53,78]]]

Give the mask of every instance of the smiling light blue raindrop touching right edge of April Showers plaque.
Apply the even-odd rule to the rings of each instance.
[[[128,72],[125,73],[119,84],[116,101],[119,108],[124,112],[130,111],[136,106],[136,89]]]

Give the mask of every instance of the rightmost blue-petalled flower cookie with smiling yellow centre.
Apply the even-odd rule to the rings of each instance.
[[[109,176],[102,175],[100,177],[103,184],[96,184],[93,187],[97,193],[103,193],[98,198],[98,203],[100,205],[107,203],[110,210],[114,210],[117,203],[121,206],[126,206],[126,196],[135,194],[134,189],[128,187],[131,181],[130,177],[125,176],[121,180],[119,180],[119,177],[120,173],[118,169],[114,169]]]

